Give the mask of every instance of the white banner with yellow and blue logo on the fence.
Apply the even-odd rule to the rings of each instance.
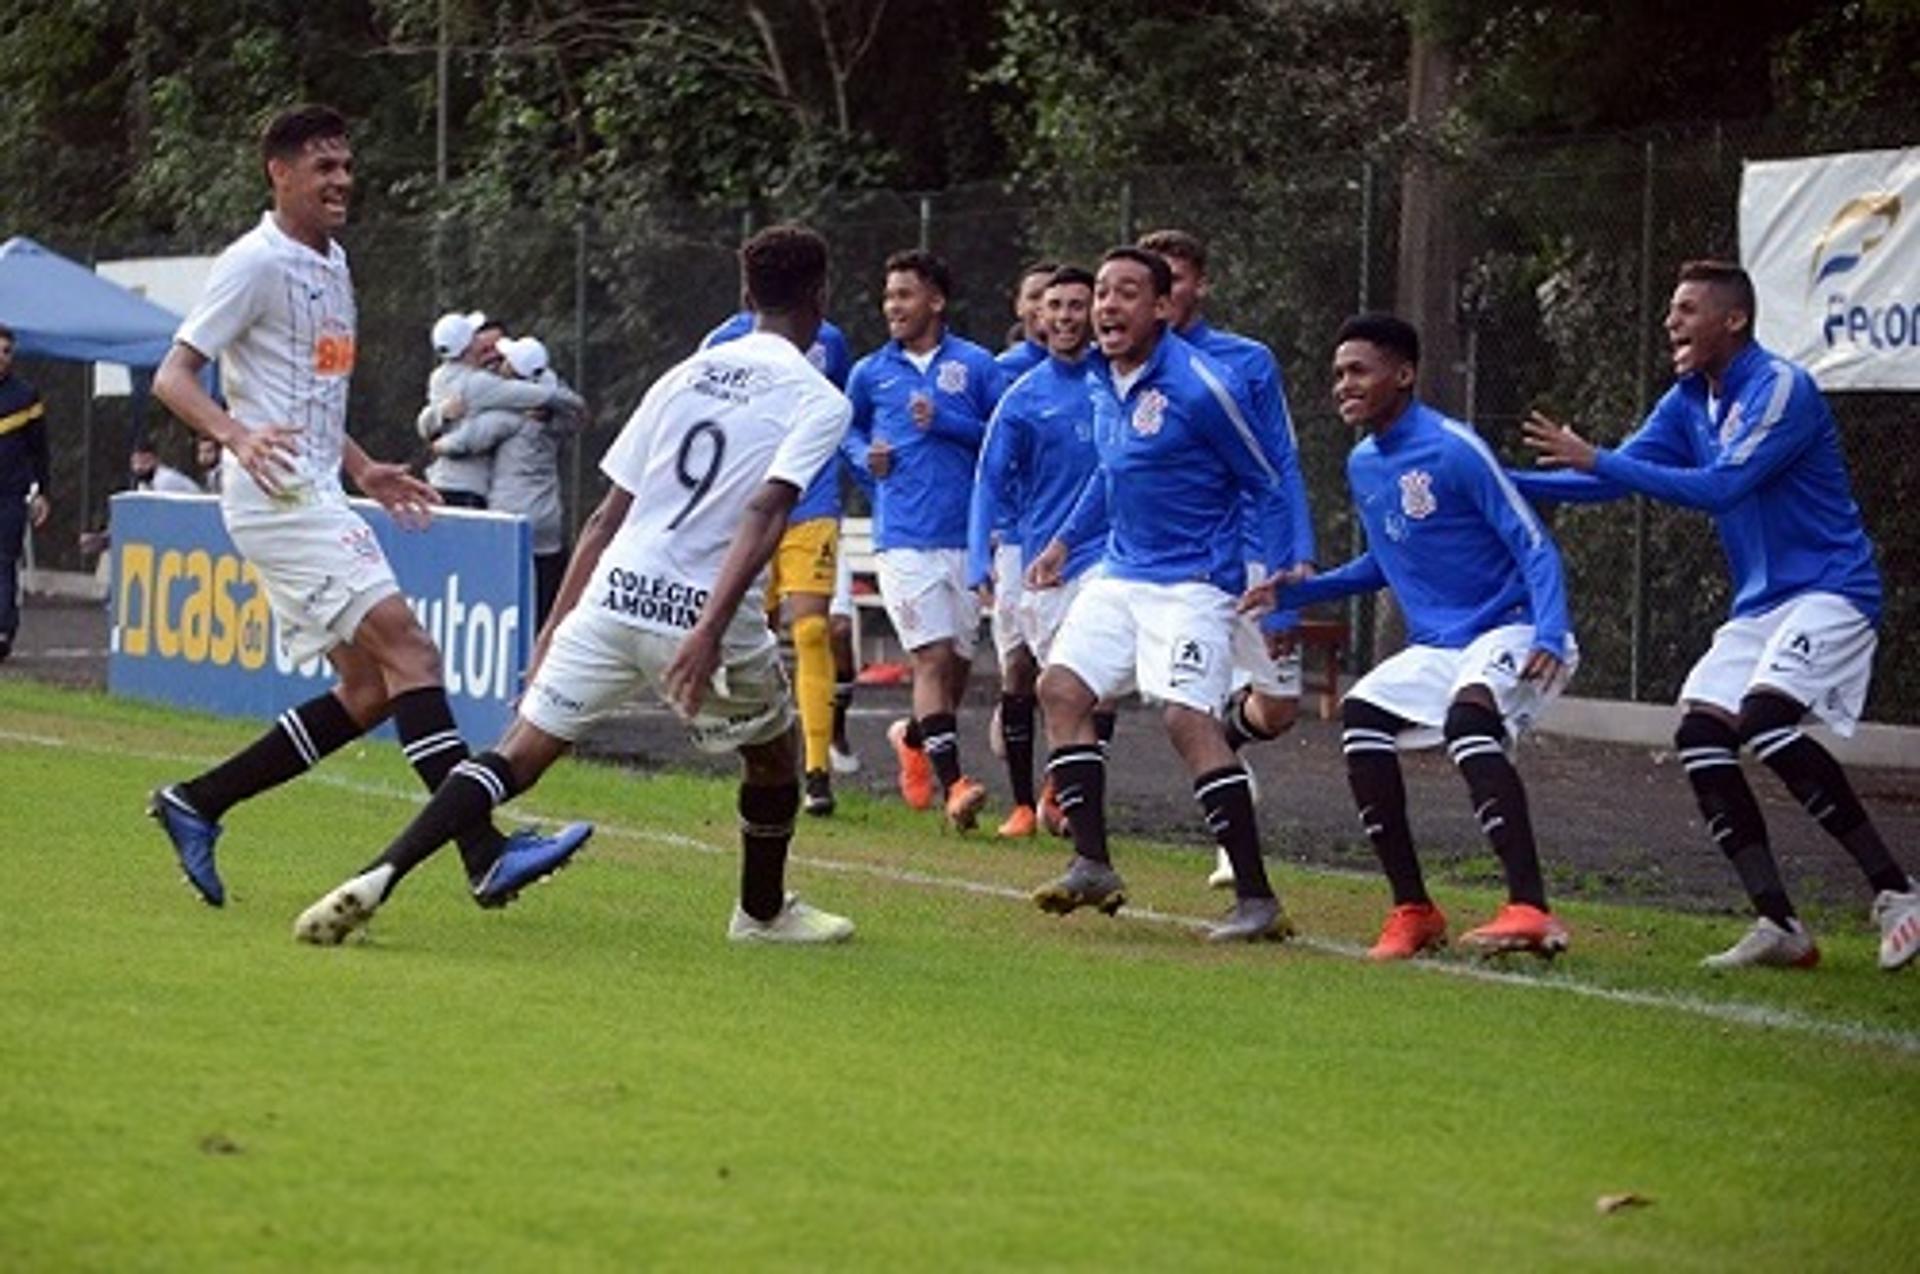
[[[1743,165],[1740,261],[1822,389],[1920,389],[1920,148]]]

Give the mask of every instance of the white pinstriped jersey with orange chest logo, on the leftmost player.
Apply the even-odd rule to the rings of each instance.
[[[276,501],[228,451],[221,503],[236,510],[344,501],[340,453],[353,374],[353,278],[340,244],[321,255],[265,213],[213,261],[207,288],[175,340],[219,359],[234,420],[300,430],[294,474]]]

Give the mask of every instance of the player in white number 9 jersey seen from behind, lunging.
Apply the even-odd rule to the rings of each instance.
[[[793,693],[766,627],[760,572],[801,491],[847,432],[847,399],[803,353],[826,313],[828,248],[770,226],[741,248],[755,330],[701,349],[653,382],[601,459],[612,482],[540,631],[526,695],[490,752],[453,769],[361,875],[300,917],[340,942],[386,898],[396,867],[486,823],[601,716],[655,689],[693,743],[737,750],[741,879],[735,942],[841,942],[852,921],[785,892],[801,808]]]

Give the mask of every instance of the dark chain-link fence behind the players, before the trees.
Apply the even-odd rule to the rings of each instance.
[[[1791,138],[1711,129],[1505,146],[1436,163],[1415,217],[1425,249],[1446,253],[1450,278],[1444,313],[1421,317],[1430,347],[1423,391],[1473,420],[1513,464],[1530,462],[1519,424],[1532,407],[1617,441],[1668,384],[1661,318],[1674,269],[1699,255],[1734,257],[1740,161],[1793,150]],[[1273,173],[1156,169],[1025,194],[862,192],[799,215],[833,246],[833,315],[854,351],[885,340],[879,263],[897,248],[941,251],[956,276],[952,326],[998,347],[1021,263],[1091,263],[1110,244],[1167,224],[1206,236],[1210,315],[1265,340],[1284,368],[1319,556],[1331,564],[1352,553],[1344,457],[1354,439],[1331,411],[1329,342],[1356,309],[1394,303],[1404,221],[1396,169],[1361,157]],[[751,228],[739,213],[695,211],[351,226],[346,244],[361,307],[355,436],[378,457],[417,455],[411,424],[432,366],[428,324],[444,309],[486,309],[511,330],[543,338],[555,366],[593,405],[566,474],[578,524],[601,491],[595,462],[649,380],[735,309],[733,248]],[[58,246],[92,259],[219,248]],[[134,407],[88,403],[73,368],[25,370],[48,393],[61,439],[61,522],[42,545],[67,558],[71,533],[98,520],[119,485]],[[1897,436],[1914,399],[1836,393],[1830,401],[1887,585],[1868,712],[1920,721],[1920,658],[1910,658],[1920,656],[1920,459]],[[90,416],[90,453],[73,443],[81,416]],[[163,453],[184,457],[184,434],[177,426],[167,434]],[[1584,654],[1580,691],[1670,698],[1726,610],[1711,524],[1638,503],[1563,508],[1553,520]],[[1352,618],[1363,666],[1373,612],[1361,606]]]

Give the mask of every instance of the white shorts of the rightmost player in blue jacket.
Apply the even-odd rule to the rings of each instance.
[[[1878,645],[1872,620],[1845,597],[1803,593],[1715,629],[1713,645],[1680,687],[1680,702],[1740,712],[1751,691],[1772,687],[1849,737],[1866,706]]]

